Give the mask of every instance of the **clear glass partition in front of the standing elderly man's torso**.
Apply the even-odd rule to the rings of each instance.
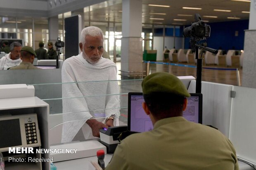
[[[127,125],[128,92],[141,92],[141,83],[142,79],[133,79],[30,85],[35,88],[35,96],[49,104],[50,135],[55,136],[50,137],[50,144],[58,144],[95,138],[87,120],[105,124],[109,116],[114,116],[114,126]],[[107,88],[115,85],[116,90]],[[66,90],[74,87],[77,91]],[[83,95],[78,87],[88,91]]]

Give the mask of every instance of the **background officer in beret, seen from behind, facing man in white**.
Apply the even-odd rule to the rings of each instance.
[[[22,62],[17,66],[9,68],[9,70],[40,69],[33,65],[33,61],[35,57],[36,57],[35,51],[29,46],[24,46],[21,48]]]

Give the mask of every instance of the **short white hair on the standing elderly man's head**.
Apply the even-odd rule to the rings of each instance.
[[[90,27],[83,28],[83,30],[81,32],[81,42],[82,42],[82,44],[85,43],[86,35],[90,35],[92,37],[102,36],[102,38],[103,38],[102,30],[98,27],[95,27],[95,26],[90,26]]]

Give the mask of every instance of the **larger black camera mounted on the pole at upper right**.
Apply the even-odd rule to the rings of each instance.
[[[195,14],[194,19],[196,22],[192,23],[190,27],[187,27],[183,30],[184,37],[194,37],[199,40],[209,38],[211,27],[207,25],[204,21],[202,21],[201,16],[199,14]]]

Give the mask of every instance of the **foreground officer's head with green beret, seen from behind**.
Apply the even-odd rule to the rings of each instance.
[[[142,104],[146,114],[156,120],[182,116],[187,107],[187,92],[184,84],[175,75],[156,72],[142,81],[145,102]]]

